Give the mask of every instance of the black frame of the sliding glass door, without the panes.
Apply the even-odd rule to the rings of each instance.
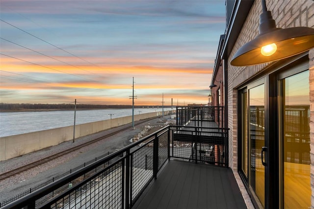
[[[249,92],[249,88],[252,88],[256,82],[260,79],[264,79],[265,84],[265,146],[267,147],[267,152],[265,153],[265,208],[280,208],[282,207],[280,197],[281,186],[280,185],[280,175],[282,168],[280,168],[280,141],[279,141],[279,102],[278,101],[278,81],[280,78],[286,78],[291,75],[295,75],[302,71],[309,69],[309,52],[304,52],[302,54],[296,55],[292,58],[286,60],[275,62],[269,65],[263,71],[263,73],[251,78],[239,86],[238,88],[238,105],[237,113],[242,115],[242,97],[241,94],[244,91]],[[302,70],[303,69],[303,70]],[[255,85],[256,86],[256,85]],[[249,99],[249,94],[248,94]],[[270,117],[271,116],[271,117]],[[260,208],[261,204],[256,200],[256,195],[249,189],[249,176],[245,177],[242,172],[242,118],[238,117],[237,126],[237,136],[238,136],[238,173],[245,185],[253,205],[256,208]],[[249,140],[249,139],[248,139]],[[250,147],[248,147],[250,150]],[[250,158],[248,154],[248,158]],[[250,166],[250,160],[248,162]],[[249,168],[248,168],[249,169]],[[249,171],[250,172],[250,171]],[[253,197],[253,198],[252,198]]]

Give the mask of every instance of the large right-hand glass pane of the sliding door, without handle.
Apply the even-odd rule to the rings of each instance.
[[[311,208],[309,71],[282,79],[279,85],[284,208]]]

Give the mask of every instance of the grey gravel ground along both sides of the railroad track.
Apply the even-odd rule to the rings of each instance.
[[[153,119],[146,124],[140,124],[138,126],[135,125],[135,129],[130,128],[126,131],[121,131],[92,145],[83,147],[76,152],[70,153],[63,157],[59,157],[53,161],[37,166],[31,170],[28,170],[27,172],[21,173],[9,179],[2,180],[0,181],[0,202],[14,197],[35,185],[44,183],[52,177],[57,176],[58,174],[65,173],[71,168],[82,165],[84,164],[84,162],[95,159],[95,157],[102,156],[108,152],[113,153],[116,151],[116,149],[121,149],[131,144],[130,140],[135,135],[137,136],[145,134],[144,132],[146,131],[143,131],[145,130],[145,126],[152,127],[152,129],[148,131],[148,133],[146,133],[149,134],[160,129],[165,125],[165,122],[169,121],[170,123],[173,122],[170,120],[170,116],[164,116],[163,118]],[[127,126],[130,125],[125,125],[123,127]],[[72,143],[72,141],[68,141],[53,147],[26,154],[22,157],[15,157],[12,159],[0,161],[0,173],[4,173],[7,170],[12,170],[32,161],[36,161],[43,157],[47,157],[54,153],[69,149],[75,145],[98,138],[110,132],[117,131],[120,128],[121,127],[113,128],[85,137],[80,137],[75,140],[75,143]]]

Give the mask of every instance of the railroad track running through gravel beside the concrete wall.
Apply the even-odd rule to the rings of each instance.
[[[153,119],[156,119],[156,118],[159,118],[159,116],[154,117],[154,118],[150,118],[150,119],[147,119],[147,120],[138,121],[138,122],[136,122],[134,125],[137,126],[137,125],[139,125],[139,124],[146,123],[147,121],[150,121],[150,120],[153,120]],[[16,168],[16,169],[7,171],[7,172],[5,172],[5,173],[2,173],[2,174],[0,174],[0,181],[2,181],[2,180],[4,180],[4,179],[7,179],[7,178],[10,178],[10,177],[12,177],[12,176],[15,176],[15,175],[17,175],[17,174],[23,173],[23,172],[25,172],[25,171],[27,171],[27,170],[29,170],[29,169],[31,169],[31,168],[34,168],[34,167],[36,167],[36,166],[38,166],[38,165],[44,164],[44,163],[46,163],[46,162],[49,162],[49,161],[51,161],[51,160],[53,160],[53,159],[56,159],[56,158],[58,158],[58,157],[62,157],[62,156],[64,156],[64,155],[67,155],[67,154],[69,154],[69,153],[71,153],[71,152],[74,152],[74,151],[76,151],[76,150],[78,150],[78,149],[80,149],[80,148],[82,148],[82,147],[88,146],[88,145],[90,145],[90,144],[93,144],[93,143],[95,143],[95,142],[98,142],[98,141],[100,141],[100,140],[103,140],[103,139],[105,139],[105,138],[107,138],[107,137],[109,137],[109,136],[112,136],[112,135],[114,135],[114,134],[116,134],[116,133],[118,133],[118,132],[120,132],[120,131],[128,130],[128,129],[130,129],[131,127],[132,127],[132,126],[128,126],[128,127],[125,127],[125,128],[121,128],[121,129],[119,129],[118,131],[114,131],[114,132],[112,132],[112,133],[108,133],[108,134],[106,134],[106,135],[104,135],[104,136],[101,136],[101,137],[99,137],[99,138],[96,138],[96,139],[93,139],[93,140],[91,140],[91,141],[85,142],[85,143],[80,144],[80,145],[78,145],[78,146],[72,147],[72,148],[70,148],[70,149],[68,149],[68,150],[65,150],[65,151],[56,153],[56,154],[54,154],[54,155],[52,155],[52,156],[42,158],[42,159],[40,159],[40,160],[31,162],[31,163],[29,163],[29,164],[27,164],[27,165],[24,165],[24,166],[22,166],[22,167],[19,167],[19,168]]]

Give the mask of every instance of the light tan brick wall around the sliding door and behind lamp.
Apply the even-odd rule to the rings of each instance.
[[[314,27],[314,1],[313,0],[266,0],[267,9],[272,12],[273,19],[276,21],[277,27],[287,28],[293,26],[308,26]],[[237,170],[237,87],[245,83],[249,78],[262,72],[268,64],[234,67],[230,64],[232,57],[237,49],[239,49],[246,42],[254,39],[259,31],[260,14],[262,13],[261,0],[255,0],[251,11],[244,23],[234,48],[228,58],[228,126],[230,128],[229,135],[229,166]],[[313,51],[313,50],[312,50]],[[310,53],[310,78],[314,82],[314,52]],[[314,83],[313,83],[314,85]],[[311,88],[311,159],[314,163],[314,86]],[[312,101],[313,98],[313,101]],[[313,124],[312,124],[313,121]],[[314,165],[313,165],[314,166]],[[314,188],[314,167],[311,169],[312,187]],[[314,191],[313,191],[314,193]],[[314,197],[313,197],[314,200]],[[314,203],[314,201],[312,201]]]

